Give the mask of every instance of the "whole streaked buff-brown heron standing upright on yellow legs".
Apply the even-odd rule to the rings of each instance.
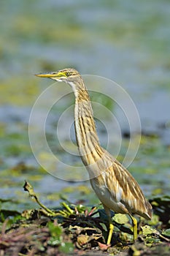
[[[82,77],[75,69],[62,69],[58,72],[37,75],[63,81],[72,86],[75,95],[74,124],[77,146],[82,162],[88,170],[90,184],[109,217],[109,236],[112,238],[112,220],[110,210],[128,214],[134,225],[134,240],[137,237],[137,222],[132,214],[151,219],[152,206],[145,199],[137,181],[109,152],[101,148],[93,120],[88,91]]]

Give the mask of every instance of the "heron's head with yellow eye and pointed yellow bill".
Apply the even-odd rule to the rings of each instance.
[[[36,75],[39,78],[50,78],[58,82],[74,83],[80,78],[80,73],[76,69],[61,69],[56,72],[40,73]]]

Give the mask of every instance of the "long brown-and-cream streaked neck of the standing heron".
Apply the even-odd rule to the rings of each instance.
[[[93,120],[93,110],[84,83],[82,83],[81,88],[77,86],[74,89],[74,94],[74,124],[80,157],[86,166],[93,165],[101,158],[104,152],[99,145],[96,126]]]

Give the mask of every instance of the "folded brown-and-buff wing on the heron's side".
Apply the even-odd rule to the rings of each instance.
[[[139,214],[146,219],[151,219],[152,206],[145,199],[142,189],[131,173],[115,160],[107,169],[107,174],[106,185],[112,197],[117,202],[123,203],[130,214]]]

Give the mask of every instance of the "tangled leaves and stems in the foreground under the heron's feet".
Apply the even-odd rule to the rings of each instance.
[[[135,244],[130,242],[128,217],[112,214],[114,236],[112,244],[106,245],[107,215],[103,209],[74,205],[68,200],[62,201],[61,207],[50,209],[40,202],[31,184],[26,181],[23,188],[40,208],[21,213],[1,211],[1,255],[169,255],[169,196],[150,200],[152,220],[139,217]]]

